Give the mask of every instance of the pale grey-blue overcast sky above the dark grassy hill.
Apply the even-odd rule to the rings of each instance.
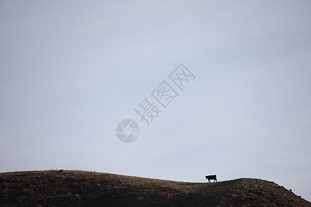
[[[252,177],[311,201],[310,19],[310,1],[2,0],[0,172]],[[145,98],[162,110],[149,126]]]

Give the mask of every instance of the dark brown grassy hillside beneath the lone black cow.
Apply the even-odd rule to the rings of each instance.
[[[0,173],[1,206],[311,206],[261,179],[187,183],[78,170]]]

